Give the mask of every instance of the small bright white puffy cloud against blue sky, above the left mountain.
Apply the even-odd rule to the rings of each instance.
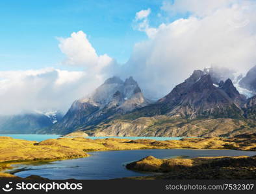
[[[83,31],[73,32],[70,38],[58,38],[58,47],[66,55],[65,65],[82,66],[86,70],[99,72],[112,63],[107,54],[98,56]]]

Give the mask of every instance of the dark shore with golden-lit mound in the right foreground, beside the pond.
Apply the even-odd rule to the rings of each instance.
[[[134,179],[255,179],[256,156],[158,159],[147,156],[127,164],[127,169],[161,172]]]

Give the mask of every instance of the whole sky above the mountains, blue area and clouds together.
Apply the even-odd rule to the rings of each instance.
[[[0,114],[65,112],[114,75],[157,99],[212,64],[245,74],[255,10],[255,0],[1,0]]]

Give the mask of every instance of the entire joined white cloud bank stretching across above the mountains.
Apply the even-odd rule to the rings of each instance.
[[[205,2],[209,6],[204,6]],[[86,34],[79,31],[58,40],[66,56],[63,65],[84,67],[83,71],[0,71],[0,114],[65,112],[74,100],[114,75],[134,76],[146,96],[157,99],[195,69],[218,66],[245,73],[255,65],[255,1],[164,1],[161,9],[162,16],[166,16],[165,12],[168,17],[189,14],[151,27],[151,10],[138,12],[134,29],[145,32],[148,39],[134,45],[131,58],[124,65],[118,65],[107,54],[98,55]]]

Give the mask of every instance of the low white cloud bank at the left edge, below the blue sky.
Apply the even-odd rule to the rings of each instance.
[[[40,69],[0,71],[0,114],[62,111],[92,92],[100,77],[83,71]]]

